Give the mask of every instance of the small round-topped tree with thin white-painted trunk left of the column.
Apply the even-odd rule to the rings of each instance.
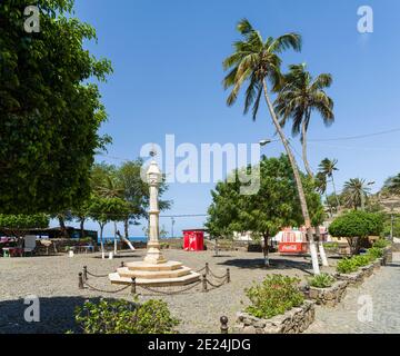
[[[104,258],[104,226],[110,221],[121,221],[129,212],[129,204],[120,198],[103,198],[93,196],[89,207],[89,217],[100,227],[100,245]]]

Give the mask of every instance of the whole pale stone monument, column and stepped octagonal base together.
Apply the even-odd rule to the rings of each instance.
[[[142,261],[128,263],[109,275],[111,284],[130,285],[136,278],[137,285],[143,286],[183,286],[200,279],[200,274],[191,270],[182,263],[167,260],[160,250],[159,243],[159,209],[158,185],[161,181],[161,171],[156,160],[151,161],[147,172],[150,186],[149,210],[149,243],[148,251]]]

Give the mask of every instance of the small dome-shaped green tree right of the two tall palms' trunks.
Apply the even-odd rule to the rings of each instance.
[[[368,236],[379,236],[383,231],[382,214],[351,210],[336,218],[329,226],[329,234],[346,237],[351,254],[357,254],[362,240]]]

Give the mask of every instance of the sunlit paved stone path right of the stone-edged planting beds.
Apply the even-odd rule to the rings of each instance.
[[[400,254],[359,288],[348,288],[337,307],[318,306],[306,333],[400,334]]]

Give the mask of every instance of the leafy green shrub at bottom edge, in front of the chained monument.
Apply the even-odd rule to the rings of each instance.
[[[162,300],[143,304],[101,299],[87,301],[76,310],[76,320],[84,334],[173,334],[178,319]]]

